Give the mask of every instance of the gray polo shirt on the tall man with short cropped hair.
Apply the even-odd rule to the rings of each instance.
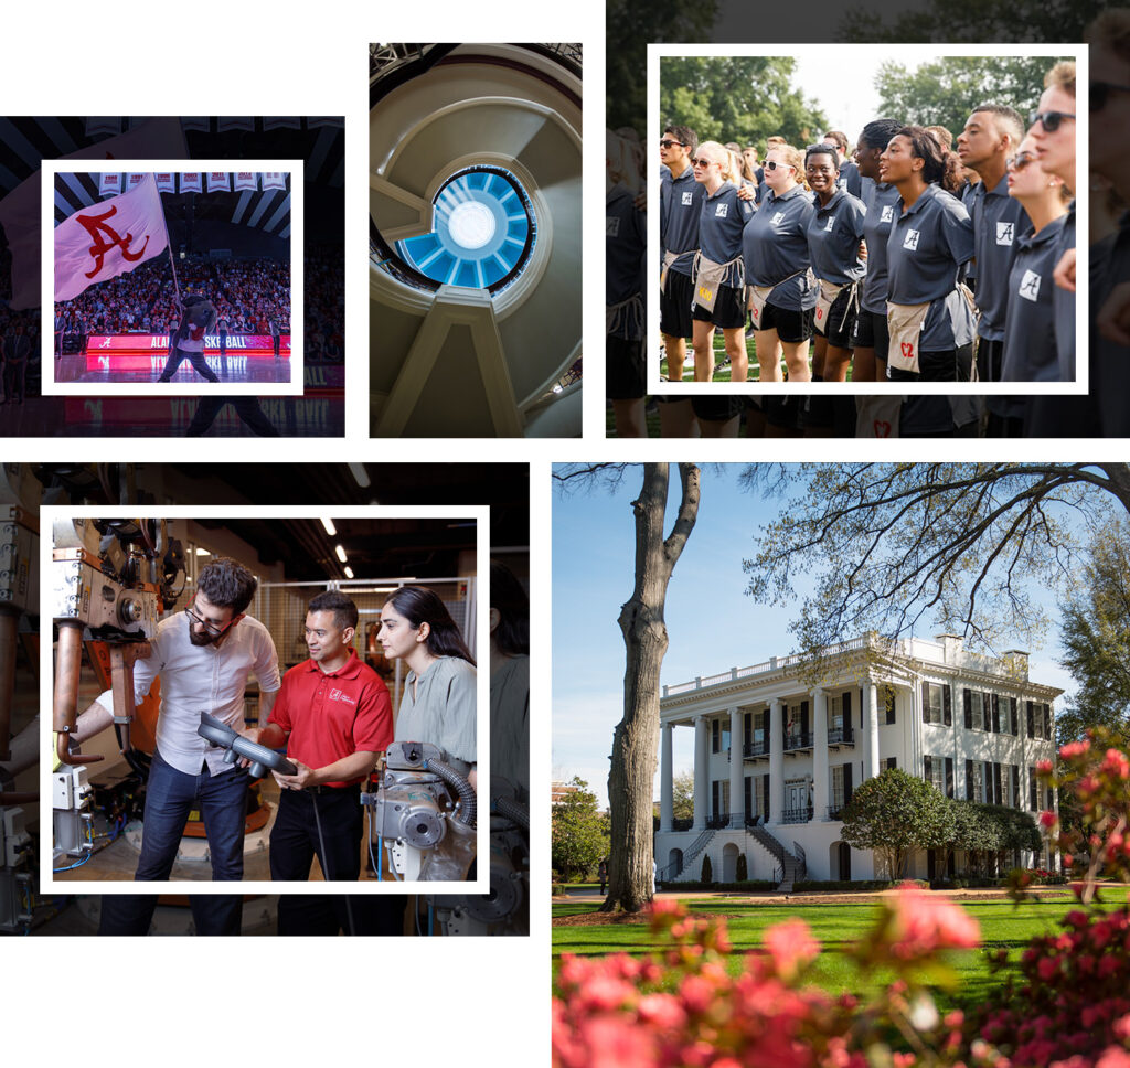
[[[1032,233],[1032,220],[1020,202],[1008,196],[1007,174],[993,189],[986,190],[984,182],[979,182],[965,207],[973,219],[973,250],[980,279],[977,336],[988,341],[1001,341],[1016,240]]]

